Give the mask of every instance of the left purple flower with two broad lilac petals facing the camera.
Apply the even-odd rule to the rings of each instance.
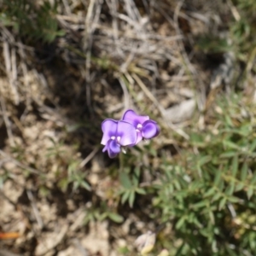
[[[106,119],[102,122],[103,152],[108,150],[110,158],[114,158],[121,151],[121,147],[132,147],[137,142],[137,131],[130,123],[120,120]]]

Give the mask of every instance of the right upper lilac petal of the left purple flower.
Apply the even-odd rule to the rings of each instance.
[[[121,146],[133,146],[137,141],[137,131],[133,125],[125,121],[119,121],[117,137],[120,137]]]

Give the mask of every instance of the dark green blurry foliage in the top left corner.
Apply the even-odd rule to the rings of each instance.
[[[41,5],[29,0],[3,0],[1,4],[0,22],[3,26],[10,26],[21,37],[33,40],[42,39],[51,43],[56,37],[65,34],[59,30],[55,15],[57,2],[52,6],[45,0]]]

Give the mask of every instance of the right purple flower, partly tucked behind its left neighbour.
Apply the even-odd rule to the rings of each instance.
[[[143,138],[150,139],[158,136],[160,133],[160,128],[154,120],[149,119],[149,117],[145,115],[138,115],[131,109],[128,109],[124,113],[122,119],[136,128],[136,144],[139,143]]]

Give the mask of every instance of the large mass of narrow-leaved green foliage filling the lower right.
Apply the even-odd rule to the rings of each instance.
[[[160,165],[153,202],[161,221],[172,220],[175,239],[183,241],[173,255],[256,252],[255,225],[249,221],[256,207],[256,122],[253,106],[244,106],[241,96],[230,99],[219,99],[213,126],[193,132],[180,157]]]

